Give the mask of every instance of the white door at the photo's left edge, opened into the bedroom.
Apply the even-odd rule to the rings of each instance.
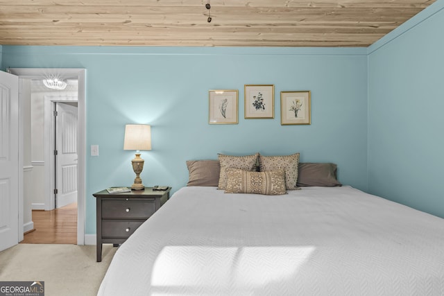
[[[0,71],[0,251],[19,243],[19,78]]]

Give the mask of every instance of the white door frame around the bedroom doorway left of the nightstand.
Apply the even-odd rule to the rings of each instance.
[[[85,76],[86,69],[58,69],[58,68],[9,68],[9,73],[19,76],[19,79],[44,79],[54,75],[62,79],[77,79],[78,102],[78,177],[77,177],[77,245],[85,245],[85,207],[86,207],[86,102],[85,102]],[[19,94],[20,97],[20,94]],[[19,98],[20,101],[20,98]],[[19,114],[23,114],[23,106],[19,106]],[[22,124],[23,116],[19,118]],[[19,130],[19,139],[23,131]],[[23,141],[19,141],[19,150]],[[23,153],[19,153],[19,164],[23,164]],[[19,172],[23,171],[19,167]],[[23,191],[23,177],[19,177],[19,191]],[[21,205],[21,206],[20,206]],[[22,217],[22,218],[20,218]],[[23,195],[19,195],[19,237],[23,237]]]

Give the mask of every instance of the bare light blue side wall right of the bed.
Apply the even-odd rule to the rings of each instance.
[[[370,193],[444,218],[444,1],[370,46]]]

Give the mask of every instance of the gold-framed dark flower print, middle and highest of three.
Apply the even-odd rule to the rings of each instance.
[[[275,86],[245,85],[245,118],[275,118]]]

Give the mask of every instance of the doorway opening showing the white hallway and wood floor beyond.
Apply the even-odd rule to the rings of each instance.
[[[24,195],[24,213],[31,204],[33,229],[22,243],[77,242],[78,81],[65,81],[55,90],[31,80],[32,170],[24,192],[33,194]]]

